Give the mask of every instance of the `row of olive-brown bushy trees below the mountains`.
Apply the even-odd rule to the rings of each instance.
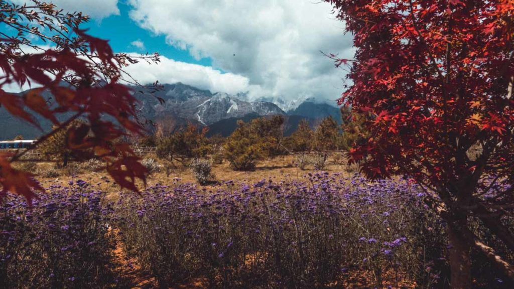
[[[341,109],[341,116],[342,125],[327,117],[314,128],[308,121],[301,120],[289,136],[284,136],[283,116],[240,120],[228,137],[221,134],[208,137],[207,128],[192,123],[171,132],[166,123],[161,123],[154,134],[132,142],[139,147],[156,147],[157,156],[170,164],[186,164],[210,156],[214,163],[229,161],[234,170],[253,170],[259,160],[289,153],[314,151],[326,158],[327,151],[349,150],[367,137],[362,131],[364,117],[345,107]]]

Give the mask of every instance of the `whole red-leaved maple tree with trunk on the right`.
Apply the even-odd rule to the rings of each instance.
[[[352,85],[339,102],[370,137],[350,151],[370,178],[407,175],[447,223],[451,282],[471,288],[470,249],[514,268],[470,228],[514,251],[514,2],[325,0],[354,35]],[[473,155],[473,157],[471,157]]]

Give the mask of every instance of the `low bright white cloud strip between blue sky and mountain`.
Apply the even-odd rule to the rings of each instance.
[[[129,53],[136,55],[135,53]],[[159,64],[140,61],[124,69],[142,84],[158,80],[161,83],[182,82],[211,92],[235,94],[252,89],[248,78],[232,73],[222,73],[212,67],[174,61],[161,57]]]

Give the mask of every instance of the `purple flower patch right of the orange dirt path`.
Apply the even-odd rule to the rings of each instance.
[[[396,286],[395,272],[395,281],[429,285],[440,279],[431,268],[445,263],[445,240],[423,195],[407,182],[328,173],[212,191],[156,185],[122,197],[117,223],[160,284],[205,276],[215,287],[325,287],[371,272]]]

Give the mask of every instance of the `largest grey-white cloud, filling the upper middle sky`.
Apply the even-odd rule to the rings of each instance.
[[[334,100],[344,71],[319,51],[353,57],[332,7],[311,0],[129,0],[139,25],[214,68],[244,76],[258,94]]]

